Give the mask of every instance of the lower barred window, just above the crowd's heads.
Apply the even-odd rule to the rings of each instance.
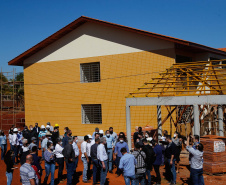
[[[83,104],[82,123],[101,124],[102,123],[101,104]]]

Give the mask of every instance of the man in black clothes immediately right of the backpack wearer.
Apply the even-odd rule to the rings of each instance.
[[[151,170],[153,162],[155,161],[155,152],[153,148],[149,145],[147,139],[144,139],[143,143],[143,151],[146,154],[146,175],[148,176],[147,185],[151,185]]]

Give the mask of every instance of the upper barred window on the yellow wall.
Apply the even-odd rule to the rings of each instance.
[[[100,62],[80,64],[81,82],[100,82]]]

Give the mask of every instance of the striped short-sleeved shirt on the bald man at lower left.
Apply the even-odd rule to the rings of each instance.
[[[20,167],[20,177],[22,185],[30,185],[30,179],[35,179],[35,183],[38,184],[38,177],[32,166],[28,163],[24,163]]]

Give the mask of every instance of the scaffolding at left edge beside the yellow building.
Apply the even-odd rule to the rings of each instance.
[[[19,96],[23,81],[16,81],[16,69],[3,72],[1,69],[1,130],[8,130],[12,125],[24,126],[24,96]]]

